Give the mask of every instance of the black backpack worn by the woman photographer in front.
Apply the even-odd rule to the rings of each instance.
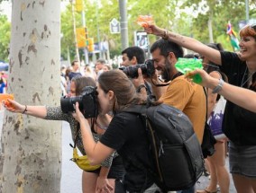
[[[165,191],[194,186],[202,175],[204,157],[187,116],[166,104],[150,107],[134,105],[123,111],[141,115],[155,164],[154,170],[146,170],[152,174],[157,185]],[[142,165],[138,161],[134,163]]]

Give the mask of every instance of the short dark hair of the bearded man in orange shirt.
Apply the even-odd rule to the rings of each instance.
[[[164,57],[168,57],[169,52],[173,52],[176,58],[183,57],[184,55],[184,51],[181,46],[167,39],[159,39],[155,41],[151,46],[151,53],[157,48],[160,49],[160,55]]]

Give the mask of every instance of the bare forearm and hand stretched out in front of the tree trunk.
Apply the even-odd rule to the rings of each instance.
[[[23,113],[26,115],[32,115],[37,118],[45,118],[47,114],[47,110],[45,106],[28,106],[20,104],[17,101],[9,100],[8,101],[12,104],[11,106],[5,105],[5,109],[9,110],[14,113]]]

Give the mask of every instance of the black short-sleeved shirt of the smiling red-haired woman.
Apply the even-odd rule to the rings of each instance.
[[[229,83],[247,88],[246,63],[233,52],[221,52],[221,71],[228,76]],[[242,86],[242,84],[244,84]],[[240,94],[240,93],[233,93]],[[256,113],[245,110],[227,101],[223,121],[224,134],[235,145],[256,145]]]

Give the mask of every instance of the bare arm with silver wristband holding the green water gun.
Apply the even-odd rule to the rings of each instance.
[[[215,87],[220,83],[218,79],[207,75],[204,70],[195,70],[193,72],[188,73],[187,78],[192,78],[194,75],[201,75],[203,86],[206,86],[210,89],[215,89]],[[252,92],[251,90],[244,89],[241,87],[233,86],[229,83],[224,83],[222,89],[219,94],[223,95],[225,99],[228,101],[232,101],[233,103],[241,106],[244,109],[251,110],[252,112],[256,112],[256,92]]]

